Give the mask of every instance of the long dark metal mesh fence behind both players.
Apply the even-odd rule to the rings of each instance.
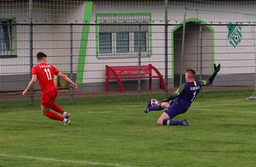
[[[1,24],[0,106],[40,104],[38,82],[21,93],[39,51],[73,82],[55,77],[56,103],[158,99],[185,82],[186,69],[215,81],[199,96],[254,92],[253,25],[197,24]],[[183,29],[183,27],[185,27]]]

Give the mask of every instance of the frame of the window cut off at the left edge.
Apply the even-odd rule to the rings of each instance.
[[[17,57],[17,25],[11,25],[15,23],[15,20],[16,18],[0,18],[0,24],[9,24],[7,25],[9,36],[9,50],[0,51],[0,58]]]

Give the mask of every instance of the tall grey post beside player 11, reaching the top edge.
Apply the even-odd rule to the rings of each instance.
[[[29,0],[29,65],[30,65],[30,76],[32,77],[32,68],[33,68],[33,21],[32,21],[32,0]],[[30,88],[30,104],[34,105],[34,90],[33,86]]]

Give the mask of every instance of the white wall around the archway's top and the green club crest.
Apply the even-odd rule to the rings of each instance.
[[[227,13],[227,12],[255,12],[253,8],[225,8],[227,12],[215,12],[214,7],[209,8],[208,10],[212,11],[191,11],[188,10],[186,13],[186,20],[190,18],[198,18],[207,23],[212,22],[212,24],[228,24],[230,22],[248,22],[248,21],[256,21],[256,17],[252,17],[251,19],[247,19],[244,15],[239,13]],[[175,12],[172,10],[177,16],[177,23],[181,23],[183,21],[183,12]],[[170,18],[175,18],[174,16],[170,16]],[[221,22],[221,23],[219,23]],[[175,24],[175,21],[171,21],[171,23]],[[247,23],[244,23],[247,24]],[[234,48],[230,45],[227,36],[228,36],[228,28],[227,25],[212,25],[214,29],[214,57],[215,63],[221,63],[223,67],[219,74],[246,74],[246,73],[255,73],[255,55],[254,55],[254,44],[253,38],[250,31],[249,26],[242,26],[241,34],[242,40],[239,45]]]

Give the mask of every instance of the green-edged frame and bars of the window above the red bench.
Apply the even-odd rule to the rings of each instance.
[[[105,54],[100,54],[99,53],[99,25],[98,24],[104,24],[101,21],[98,21],[98,17],[137,17],[137,16],[143,16],[143,17],[148,17],[147,19],[147,25],[148,27],[146,28],[146,31],[141,31],[141,32],[145,32],[146,33],[146,37],[145,37],[145,47],[146,50],[141,52],[141,56],[142,57],[150,57],[152,56],[152,33],[151,33],[151,13],[134,13],[134,14],[96,14],[96,58],[97,59],[108,59],[108,58],[130,58],[130,57],[138,57],[139,56],[139,52],[135,52],[135,48],[134,48],[134,32],[135,31],[123,31],[123,32],[128,32],[129,33],[129,52],[126,53],[116,53],[116,32],[111,32],[111,38],[112,38],[112,52],[111,53],[105,53]],[[131,20],[133,20],[131,18]],[[106,23],[106,22],[105,22]],[[122,23],[124,24],[124,21],[122,19],[120,20],[115,20],[113,23],[108,23],[108,24],[118,24],[118,23]],[[125,24],[127,24],[128,26],[130,24],[140,24],[140,23],[145,23],[144,20],[140,20],[139,22],[131,22],[131,21],[126,21]],[[131,25],[130,25],[131,26]],[[104,33],[104,32],[103,32]],[[106,32],[108,33],[108,32]]]

